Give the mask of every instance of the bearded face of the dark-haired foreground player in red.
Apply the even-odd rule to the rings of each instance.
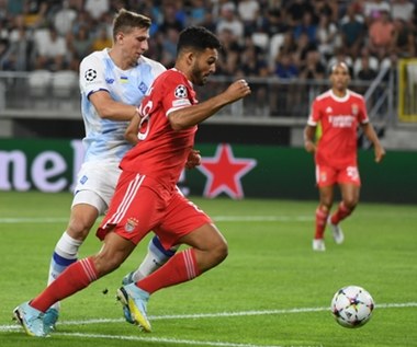
[[[191,69],[191,82],[196,85],[204,85],[208,76],[216,71],[217,59],[217,49],[207,48],[203,53],[196,54]]]

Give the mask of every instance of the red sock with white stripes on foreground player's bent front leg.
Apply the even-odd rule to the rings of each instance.
[[[138,280],[136,286],[153,293],[161,288],[178,285],[199,276],[195,251],[188,248],[177,253],[166,265],[149,276]]]

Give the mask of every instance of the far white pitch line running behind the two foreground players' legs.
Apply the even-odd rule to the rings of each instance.
[[[212,217],[214,221],[219,222],[300,222],[312,221],[312,216],[215,216]],[[68,221],[68,218],[46,218],[46,217],[20,217],[0,218],[0,223],[18,224],[18,223],[60,223]]]

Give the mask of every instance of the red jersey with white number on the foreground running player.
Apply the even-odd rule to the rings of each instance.
[[[196,103],[195,91],[182,72],[171,69],[161,73],[140,103],[139,142],[125,154],[121,167],[173,189],[193,148],[198,127],[176,131],[168,115]]]

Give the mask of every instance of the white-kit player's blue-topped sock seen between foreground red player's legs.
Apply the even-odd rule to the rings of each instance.
[[[168,251],[165,250],[158,239],[158,236],[154,236],[148,244],[148,253],[146,254],[144,261],[139,265],[139,267],[133,273],[132,279],[136,282],[139,279],[150,275],[156,269],[161,267],[165,263],[167,263],[177,252],[178,246],[173,246]]]

